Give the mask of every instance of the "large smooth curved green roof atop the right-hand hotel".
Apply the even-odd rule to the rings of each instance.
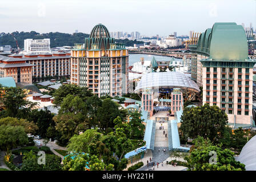
[[[199,38],[192,51],[213,60],[246,60],[248,47],[245,30],[237,23],[214,23]]]

